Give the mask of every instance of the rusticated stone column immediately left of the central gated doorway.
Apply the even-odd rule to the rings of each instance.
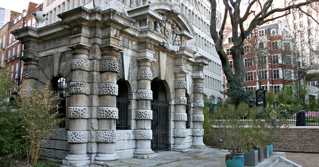
[[[134,151],[134,157],[137,158],[152,158],[157,156],[157,154],[154,154],[154,151],[151,149],[151,120],[153,118],[151,110],[151,100],[153,99],[153,93],[151,91],[151,81],[153,78],[151,71],[152,61],[152,58],[149,57],[137,58],[137,129],[135,130],[135,139],[137,141],[136,150]]]

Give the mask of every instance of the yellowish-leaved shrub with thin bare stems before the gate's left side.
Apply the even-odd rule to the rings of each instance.
[[[54,128],[61,124],[56,107],[59,103],[57,94],[49,90],[49,84],[38,88],[21,87],[20,97],[23,120],[26,123],[27,156],[31,164],[37,163],[43,145]]]

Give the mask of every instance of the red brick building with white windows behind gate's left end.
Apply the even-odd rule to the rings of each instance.
[[[41,9],[42,4],[34,4],[32,2],[29,2],[27,10],[23,10],[22,14],[15,16],[15,18],[12,18],[9,28],[7,28],[6,30],[7,35],[4,44],[5,46],[3,47],[2,51],[4,52],[3,62],[7,66],[11,67],[12,78],[15,78],[17,80],[21,79],[23,70],[24,62],[22,60],[19,60],[19,57],[23,56],[23,44],[19,43],[19,40],[15,40],[15,37],[13,34],[11,34],[11,32],[25,26],[35,27],[36,21],[32,13],[40,11]]]

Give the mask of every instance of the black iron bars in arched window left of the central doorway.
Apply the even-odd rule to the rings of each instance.
[[[116,129],[128,129],[129,124],[129,115],[128,115],[128,98],[116,97],[116,108],[118,109],[118,119],[116,121]]]

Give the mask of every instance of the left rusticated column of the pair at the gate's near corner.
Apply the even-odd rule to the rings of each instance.
[[[89,118],[88,95],[90,87],[88,74],[90,61],[88,51],[90,47],[83,45],[72,46],[73,60],[71,62],[71,82],[68,84],[70,106],[66,117],[70,119],[68,142],[69,155],[63,160],[64,165],[83,166],[90,164],[86,146],[89,139],[87,119]]]

